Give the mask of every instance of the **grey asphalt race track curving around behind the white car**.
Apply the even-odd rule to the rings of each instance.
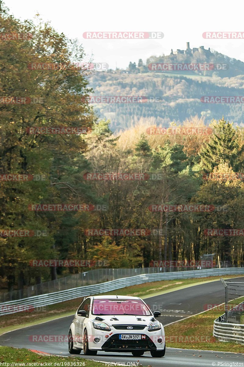
[[[244,277],[233,278],[235,281],[244,282]],[[232,280],[233,280],[232,279]],[[181,320],[185,317],[192,316],[196,313],[206,310],[206,304],[222,304],[224,302],[225,291],[222,283],[214,281],[212,283],[201,284],[199,286],[185,288],[183,290],[170,292],[163,295],[145,299],[145,302],[150,306],[152,311],[161,311],[162,316],[159,320],[167,325],[174,321]],[[78,308],[79,305],[77,305]],[[220,312],[222,315],[224,312]],[[22,328],[11,331],[0,336],[0,345],[15,346],[18,348],[28,348],[40,350],[42,352],[55,355],[71,356],[68,353],[68,343],[65,342],[34,342],[33,335],[64,335],[67,336],[68,328],[72,322],[73,316],[63,317],[58,320],[49,321],[35,326]],[[211,335],[210,335],[211,336]],[[167,337],[167,334],[166,334]],[[189,347],[191,343],[189,343]],[[121,362],[125,365],[128,362],[134,362],[132,366],[137,366],[138,363],[142,366],[158,367],[158,366],[228,366],[226,363],[237,363],[232,366],[244,366],[244,346],[243,354],[199,351],[190,349],[175,349],[166,348],[165,357],[153,358],[150,352],[144,353],[142,357],[133,357],[131,353],[108,353],[98,352],[97,356],[80,355],[82,357],[94,359],[104,362]],[[221,363],[221,364],[218,364]],[[243,364],[239,364],[243,363]],[[101,366],[100,364],[98,364]],[[107,364],[108,366],[108,364]]]

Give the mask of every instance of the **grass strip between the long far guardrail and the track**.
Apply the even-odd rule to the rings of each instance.
[[[226,275],[224,279],[233,277],[239,277],[243,275]],[[112,292],[103,293],[118,294],[118,295],[130,295],[141,298],[149,298],[158,294],[168,293],[173,290],[179,290],[186,287],[191,287],[197,284],[203,284],[210,281],[219,280],[220,276],[204,277],[204,278],[191,278],[191,279],[175,279],[175,280],[161,280],[154,282],[147,282],[143,284],[137,284],[135,286],[124,287]],[[87,294],[88,295],[88,294]],[[4,315],[0,317],[0,335],[11,330],[16,330],[25,326],[35,325],[41,322],[46,322],[60,317],[72,316],[81,304],[84,297],[71,299],[56,303],[54,305],[45,306],[43,310],[34,309],[33,312],[17,312],[10,315]],[[16,304],[18,301],[16,301]]]

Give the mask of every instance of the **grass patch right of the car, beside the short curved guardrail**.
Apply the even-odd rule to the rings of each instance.
[[[215,307],[165,327],[166,346],[181,349],[243,353],[243,344],[219,342],[213,337],[214,320],[224,312]]]

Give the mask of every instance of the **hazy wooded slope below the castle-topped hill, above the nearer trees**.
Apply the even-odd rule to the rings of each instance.
[[[224,73],[224,71],[223,71]],[[190,116],[205,117],[206,123],[224,115],[243,126],[243,103],[203,103],[203,96],[242,96],[243,76],[232,78],[168,75],[165,73],[124,73],[121,70],[98,72],[91,78],[94,96],[152,96],[152,103],[94,103],[101,118],[110,119],[112,131],[136,125],[148,119],[158,126],[170,121],[182,123]]]

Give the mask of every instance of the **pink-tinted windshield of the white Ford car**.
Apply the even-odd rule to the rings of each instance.
[[[150,316],[152,313],[140,299],[94,299],[93,315]]]

